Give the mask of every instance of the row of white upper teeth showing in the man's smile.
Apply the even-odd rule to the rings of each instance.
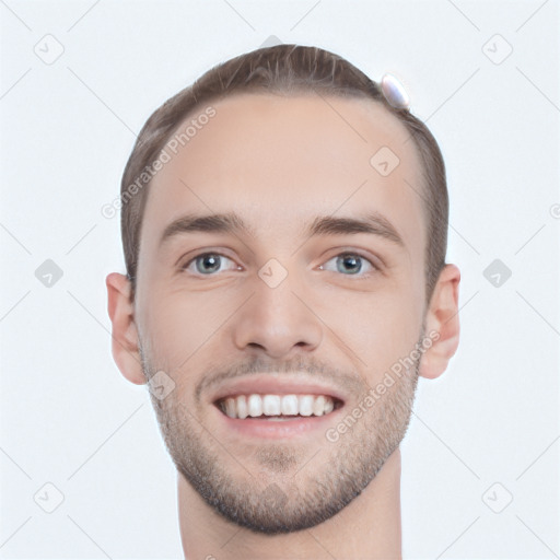
[[[324,395],[238,395],[220,402],[230,418],[265,416],[323,416],[335,408],[331,397]]]

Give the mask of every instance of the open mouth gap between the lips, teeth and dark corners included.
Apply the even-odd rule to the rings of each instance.
[[[228,418],[237,420],[294,421],[326,417],[342,407],[341,399],[330,395],[230,395],[214,401]]]

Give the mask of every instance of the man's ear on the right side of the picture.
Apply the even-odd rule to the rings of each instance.
[[[447,368],[459,343],[458,291],[460,272],[455,265],[445,265],[435,284],[425,316],[425,331],[438,332],[432,346],[425,350],[419,374],[433,380]]]

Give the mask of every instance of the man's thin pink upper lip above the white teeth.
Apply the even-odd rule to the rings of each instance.
[[[224,382],[211,396],[212,402],[236,395],[325,395],[345,402],[345,396],[337,388],[317,381],[290,377],[279,374],[278,377],[252,375]]]

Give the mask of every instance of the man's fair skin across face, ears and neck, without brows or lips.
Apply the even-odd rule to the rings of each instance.
[[[371,101],[242,94],[212,106],[215,117],[152,182],[135,300],[125,276],[106,279],[122,375],[143,384],[163,370],[175,383],[165,399],[151,398],[177,467],[186,558],[400,558],[399,444],[418,376],[441,375],[459,336],[456,266],[424,301],[425,217],[405,182],[421,188],[413,142]],[[370,164],[384,145],[400,160],[386,177]],[[364,211],[383,214],[404,246],[304,233],[316,215]],[[236,212],[254,235],[184,233],[160,246],[165,228],[190,212]],[[358,273],[337,260],[345,252],[363,257]],[[203,253],[226,257],[219,271],[200,272],[205,264],[191,259]],[[288,275],[275,288],[258,276],[271,258]],[[438,339],[336,442],[323,431],[252,440],[228,430],[212,404],[220,375],[299,372],[335,382],[351,411],[429,332]],[[225,510],[246,514],[241,526],[197,491],[205,476]],[[283,505],[271,517],[262,492],[272,485]],[[336,511],[317,521],[328,504]]]

